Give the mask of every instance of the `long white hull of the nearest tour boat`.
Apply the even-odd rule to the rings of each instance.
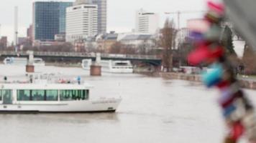
[[[20,102],[0,104],[2,113],[97,113],[115,112],[121,99],[104,99],[93,101],[70,102]]]

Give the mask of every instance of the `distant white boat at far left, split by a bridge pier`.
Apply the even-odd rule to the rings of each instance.
[[[4,59],[4,64],[9,65],[21,65],[24,66],[27,64],[28,59],[27,58],[20,58],[20,57],[7,57]],[[45,66],[45,61],[43,61],[41,58],[34,58],[32,61],[32,64],[34,66]]]

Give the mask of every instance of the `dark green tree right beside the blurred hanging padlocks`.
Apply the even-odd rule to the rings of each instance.
[[[224,32],[221,38],[221,44],[224,46],[227,55],[236,54],[234,51],[233,39],[232,39],[232,30],[229,26],[225,26]]]

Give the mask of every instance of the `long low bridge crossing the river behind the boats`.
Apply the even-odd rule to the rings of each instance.
[[[28,57],[27,51],[0,51],[1,57]],[[96,53],[85,52],[52,52],[52,51],[34,51],[34,56],[42,59],[56,60],[79,60],[93,59],[96,60]],[[129,60],[142,61],[154,66],[160,66],[162,59],[152,55],[134,55],[134,54],[101,54],[101,59],[104,60]]]

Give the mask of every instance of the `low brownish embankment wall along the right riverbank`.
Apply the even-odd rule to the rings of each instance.
[[[198,74],[183,74],[183,73],[173,73],[173,72],[157,72],[153,73],[154,77],[163,77],[164,79],[180,79],[191,82],[201,82],[201,76]],[[244,89],[254,89],[256,90],[256,80],[250,79],[239,79],[239,83]]]

